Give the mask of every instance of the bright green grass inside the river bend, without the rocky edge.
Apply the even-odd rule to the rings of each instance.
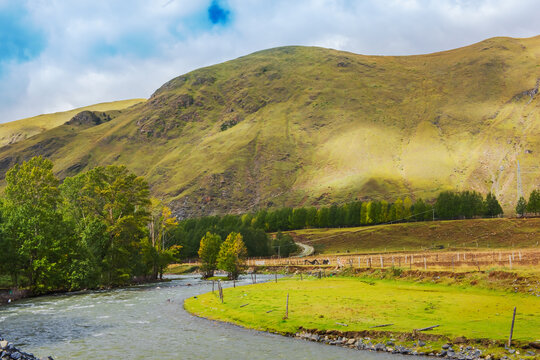
[[[287,293],[289,318],[284,320]],[[247,304],[247,305],[246,305]],[[241,307],[242,305],[245,305]],[[279,333],[305,329],[391,332],[441,325],[430,334],[504,340],[517,307],[514,339],[540,339],[540,298],[503,291],[362,278],[282,279],[224,289],[185,302],[191,313]],[[344,326],[346,324],[347,326]]]

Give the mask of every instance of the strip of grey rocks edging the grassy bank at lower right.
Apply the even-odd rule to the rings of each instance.
[[[475,348],[470,345],[460,345],[446,343],[440,346],[440,348],[430,346],[427,342],[417,340],[411,347],[398,345],[394,339],[387,340],[386,342],[377,342],[371,337],[346,337],[341,334],[336,334],[334,331],[320,332],[320,331],[308,331],[302,330],[293,335],[297,339],[319,342],[327,345],[343,346],[357,350],[387,352],[391,354],[400,355],[416,355],[416,356],[434,356],[444,359],[455,360],[494,360],[501,359],[507,360],[514,358],[516,355],[524,356],[527,358],[538,358],[538,354],[531,350],[519,350],[506,348],[508,355],[495,357],[490,354],[484,354],[484,350]],[[533,348],[534,349],[534,348]],[[521,357],[520,357],[521,358]]]

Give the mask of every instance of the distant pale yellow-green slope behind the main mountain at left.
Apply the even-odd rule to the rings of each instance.
[[[38,115],[21,120],[16,120],[8,123],[0,124],[0,146],[16,143],[18,141],[27,139],[36,134],[50,130],[57,126],[62,125],[77,113],[89,110],[89,111],[107,111],[107,110],[121,110],[129,106],[146,101],[145,99],[129,99],[105,102],[90,106],[85,106],[69,111],[56,112],[52,114]]]

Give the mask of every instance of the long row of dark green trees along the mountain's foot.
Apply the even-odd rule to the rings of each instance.
[[[170,244],[182,246],[182,256],[198,256],[203,236],[210,232],[222,239],[232,232],[242,235],[249,256],[289,256],[296,245],[281,231],[305,228],[338,228],[377,225],[392,222],[428,221],[436,219],[470,219],[502,215],[502,208],[489,193],[486,198],[474,191],[441,192],[432,202],[409,197],[387,201],[354,201],[326,207],[279,208],[259,210],[242,215],[206,216],[180,221],[169,236]],[[270,240],[268,233],[277,235]]]

